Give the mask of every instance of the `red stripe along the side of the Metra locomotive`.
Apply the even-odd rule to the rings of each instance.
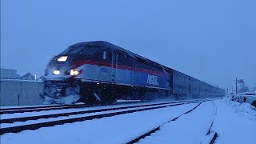
[[[112,67],[111,63],[85,60],[85,61],[71,62],[71,66],[72,66],[71,69],[76,69],[76,68],[78,68],[78,66],[82,66],[82,65],[85,65],[85,64]],[[139,72],[150,73],[150,74],[158,74],[158,75],[162,75],[162,76],[168,76],[167,73],[154,71],[154,70],[145,70],[145,69],[141,69],[141,68],[137,68],[137,67],[118,65],[118,66],[114,66],[113,68],[122,69],[122,70],[139,71]]]

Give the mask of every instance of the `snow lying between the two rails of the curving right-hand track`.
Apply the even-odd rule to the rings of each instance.
[[[138,143],[210,143],[211,139],[216,138],[216,133],[210,133],[216,113],[215,106],[210,103],[203,102],[178,118],[166,122]],[[134,139],[130,143],[137,140]]]

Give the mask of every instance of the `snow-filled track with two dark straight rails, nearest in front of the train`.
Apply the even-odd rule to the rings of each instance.
[[[106,118],[106,117],[112,117],[120,114],[129,114],[129,113],[134,113],[134,112],[139,112],[144,110],[154,110],[154,109],[164,108],[167,106],[178,106],[178,105],[195,103],[195,102],[200,102],[200,101],[196,100],[196,101],[189,101],[189,102],[165,102],[165,103],[158,103],[158,104],[147,104],[147,105],[144,104],[141,106],[122,106],[122,107],[106,108],[106,109],[99,109],[99,110],[82,110],[82,111],[77,111],[72,113],[47,114],[47,115],[38,115],[33,117],[1,119],[2,126],[0,129],[0,134],[2,135],[6,133],[18,133],[18,132],[21,132],[22,130],[37,130],[41,127],[56,126],[56,125],[62,125],[65,123],[72,123],[72,122],[82,122],[86,120],[92,120],[94,118]],[[95,113],[98,113],[98,114],[95,114]],[[75,117],[77,114],[90,114],[90,115],[87,115],[87,116],[79,115],[78,117]],[[58,117],[66,117],[66,118],[58,119]],[[42,118],[45,118],[45,119],[42,120]],[[46,118],[56,118],[56,119],[48,120]],[[27,121],[30,121],[30,120],[41,120],[42,122],[26,123]],[[15,125],[15,122],[18,122],[19,125]],[[22,124],[21,122],[25,122],[25,123]],[[9,126],[8,126],[8,123],[10,123]]]

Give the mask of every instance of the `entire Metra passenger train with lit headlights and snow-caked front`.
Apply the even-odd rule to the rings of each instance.
[[[117,99],[206,98],[216,86],[162,66],[109,42],[80,42],[54,56],[46,68],[45,103],[114,102]]]

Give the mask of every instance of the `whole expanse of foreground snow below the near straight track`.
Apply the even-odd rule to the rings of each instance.
[[[215,100],[214,103],[217,107],[217,114],[214,114],[213,102],[203,102],[191,113],[162,126],[161,130],[166,130],[166,127],[169,127],[172,133],[161,142],[201,142],[212,121],[214,124],[211,131],[218,134],[215,143],[256,142],[256,110],[254,107],[230,102],[227,99]],[[171,106],[38,130],[25,130],[18,134],[3,134],[1,143],[125,143],[172,118],[176,118],[196,105],[194,103]],[[161,143],[160,140],[148,142]]]

